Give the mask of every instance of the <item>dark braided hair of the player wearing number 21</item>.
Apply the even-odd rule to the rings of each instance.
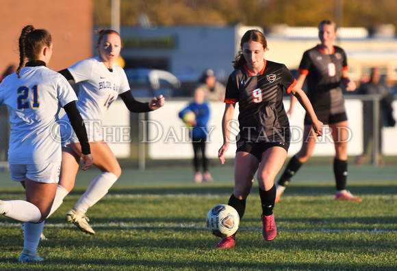
[[[33,25],[23,27],[21,36],[19,37],[19,66],[16,74],[25,65],[25,59],[38,59],[44,46],[51,46],[53,39],[49,31],[45,29],[35,29]]]

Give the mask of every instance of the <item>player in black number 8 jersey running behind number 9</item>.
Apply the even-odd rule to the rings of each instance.
[[[335,143],[333,162],[337,190],[335,200],[361,201],[360,198],[354,197],[346,190],[348,121],[340,84],[343,83],[346,86],[346,91],[354,91],[356,85],[348,77],[346,54],[342,48],[333,46],[336,37],[336,25],[333,21],[323,20],[318,25],[318,38],[320,38],[321,44],[303,54],[298,69],[297,85],[302,87],[307,78],[307,96],[313,104],[318,119],[324,124],[328,124],[331,130]],[[288,113],[292,113],[294,102],[294,97],[292,97]],[[277,183],[276,202],[279,201],[281,194],[290,183],[291,177],[313,153],[316,139],[316,134],[311,130],[311,120],[306,115],[302,147],[291,158]]]

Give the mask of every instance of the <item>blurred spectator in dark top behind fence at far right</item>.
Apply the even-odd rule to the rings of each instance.
[[[370,80],[368,81],[368,83],[361,84],[361,86],[359,87],[359,94],[372,94],[382,97],[378,112],[379,118],[376,119],[376,121],[379,123],[379,151],[381,151],[382,137],[380,137],[380,135],[382,127],[385,126],[385,123],[383,121],[383,112],[392,112],[393,109],[392,104],[391,102],[389,102],[390,100],[388,99],[388,97],[390,96],[389,88],[383,83],[383,81],[381,81],[381,70],[379,70],[379,68],[372,68]],[[363,113],[363,154],[357,157],[357,165],[363,165],[363,163],[365,162],[368,152],[368,144],[370,143],[370,140],[372,139],[374,134],[374,101],[363,101]],[[389,114],[386,114],[386,117],[387,115]],[[394,126],[395,124],[395,122],[393,124],[393,122],[390,121],[387,121],[387,123],[389,126]],[[386,163],[384,160],[379,160],[379,165],[381,165],[381,167],[384,167]]]

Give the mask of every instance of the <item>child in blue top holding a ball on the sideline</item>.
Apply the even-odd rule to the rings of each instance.
[[[194,115],[192,114],[194,113]],[[191,102],[181,112],[179,117],[183,119],[188,126],[191,126],[190,139],[192,140],[194,152],[194,182],[196,184],[212,182],[212,176],[208,171],[208,160],[205,156],[205,143],[208,137],[207,124],[209,121],[209,107],[205,102],[205,93],[201,87],[197,87],[194,91],[194,102]],[[203,174],[199,169],[200,158],[203,164]]]

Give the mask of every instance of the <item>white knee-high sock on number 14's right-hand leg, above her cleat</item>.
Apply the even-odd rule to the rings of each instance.
[[[86,213],[88,208],[102,199],[107,191],[116,182],[117,177],[113,173],[103,172],[99,174],[88,186],[84,195],[81,196],[75,205],[75,209]]]

